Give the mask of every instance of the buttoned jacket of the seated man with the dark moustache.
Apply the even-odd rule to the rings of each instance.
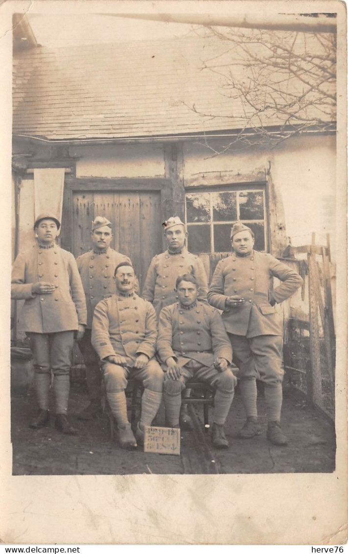
[[[113,294],[96,305],[91,341],[100,360],[117,354],[134,361],[140,353],[151,359],[156,338],[155,310],[136,294]]]

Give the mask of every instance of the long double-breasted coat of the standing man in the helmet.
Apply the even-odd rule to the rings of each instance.
[[[37,281],[54,283],[52,294],[32,294]],[[86,301],[73,254],[54,244],[35,244],[14,261],[11,297],[25,300],[21,327],[32,333],[74,331],[86,324]]]

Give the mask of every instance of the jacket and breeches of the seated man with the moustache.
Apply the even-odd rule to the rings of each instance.
[[[135,377],[145,388],[162,392],[163,371],[155,359],[156,314],[150,302],[136,294],[114,294],[95,307],[92,345],[102,362],[106,392],[126,388],[127,378]],[[144,353],[149,362],[143,370],[132,368],[137,355]],[[108,356],[128,358],[127,367],[105,360]]]

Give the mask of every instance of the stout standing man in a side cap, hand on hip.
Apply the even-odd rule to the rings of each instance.
[[[280,428],[282,409],[282,322],[274,305],[293,295],[302,284],[289,266],[253,250],[252,229],[241,222],[233,225],[234,253],[216,266],[208,302],[223,310],[222,319],[239,367],[239,386],[247,422],[241,438],[259,434],[256,378],[264,383],[268,415],[267,438],[275,445],[287,444]],[[282,284],[273,289],[273,277]]]

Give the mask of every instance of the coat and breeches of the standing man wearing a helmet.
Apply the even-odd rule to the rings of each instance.
[[[37,281],[54,283],[55,291],[32,294]],[[85,295],[73,255],[55,244],[50,248],[36,244],[19,254],[12,270],[11,297],[25,300],[21,328],[32,343],[35,371],[47,373],[52,368],[54,373],[68,373],[73,331],[86,324]]]

